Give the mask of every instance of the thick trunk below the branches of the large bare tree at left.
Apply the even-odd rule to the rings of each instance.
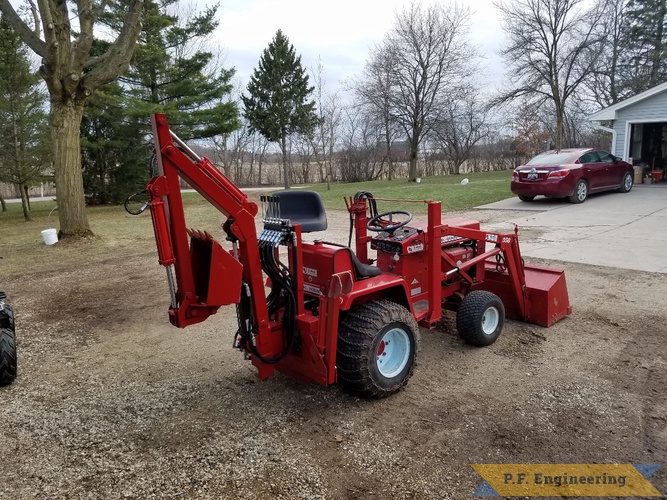
[[[60,239],[92,236],[86,215],[79,134],[83,102],[51,101],[51,133]]]

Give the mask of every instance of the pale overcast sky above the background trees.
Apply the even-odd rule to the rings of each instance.
[[[486,58],[483,90],[494,90],[502,76],[498,11],[492,0],[460,2],[472,12],[469,38]],[[236,68],[245,87],[262,51],[281,29],[308,70],[321,58],[327,88],[333,90],[361,75],[369,48],[381,43],[396,12],[409,5],[409,0],[224,0],[215,42],[226,49],[225,66]]]

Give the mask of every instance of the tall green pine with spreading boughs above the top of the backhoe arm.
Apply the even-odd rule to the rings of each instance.
[[[224,99],[234,70],[217,68],[214,55],[199,50],[218,26],[218,7],[190,16],[168,13],[178,8],[179,0],[146,1],[130,69],[120,78],[128,112],[135,120],[165,113],[183,139],[229,133],[239,127],[236,103]]]

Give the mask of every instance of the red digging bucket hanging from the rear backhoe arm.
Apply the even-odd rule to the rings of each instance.
[[[206,232],[188,231],[197,302],[209,307],[236,304],[243,265]]]

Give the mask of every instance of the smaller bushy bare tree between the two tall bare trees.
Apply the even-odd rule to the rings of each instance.
[[[432,136],[445,153],[451,171],[458,174],[475,145],[489,135],[488,108],[478,100],[478,91],[468,88],[460,98],[444,103],[444,111],[433,126]]]

